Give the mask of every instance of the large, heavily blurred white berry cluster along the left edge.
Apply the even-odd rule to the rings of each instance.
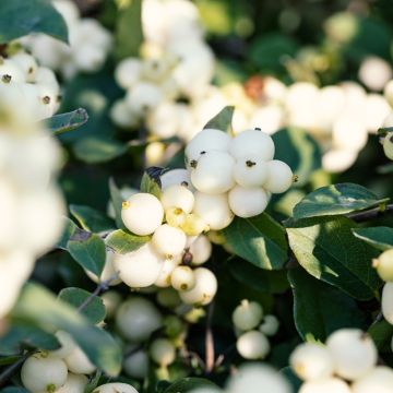
[[[28,74],[36,78],[39,68],[28,55],[16,56],[33,71],[7,59],[0,66],[2,79],[11,79],[0,82],[0,318],[13,306],[35,259],[60,237],[66,212],[53,181],[60,148],[37,122],[38,97],[31,93],[39,88],[32,84],[31,90],[25,82]]]

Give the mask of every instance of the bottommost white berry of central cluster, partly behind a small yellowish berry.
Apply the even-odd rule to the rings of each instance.
[[[204,267],[198,267],[193,273],[195,286],[190,290],[180,291],[180,298],[186,305],[209,305],[217,291],[217,278]]]

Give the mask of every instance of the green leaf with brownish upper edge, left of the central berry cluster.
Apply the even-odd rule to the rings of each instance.
[[[100,275],[106,261],[106,249],[98,235],[78,230],[68,241],[67,249],[83,269]]]

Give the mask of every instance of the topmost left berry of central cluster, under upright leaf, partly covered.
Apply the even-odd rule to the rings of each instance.
[[[210,151],[227,152],[230,144],[230,136],[216,129],[204,129],[199,132],[187,145],[184,154],[188,165],[193,160],[198,162],[201,154]]]

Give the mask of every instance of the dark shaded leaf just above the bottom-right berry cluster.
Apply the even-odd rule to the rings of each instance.
[[[288,279],[294,291],[295,325],[302,340],[311,335],[324,342],[335,330],[367,326],[356,301],[337,288],[300,267],[288,271]]]

